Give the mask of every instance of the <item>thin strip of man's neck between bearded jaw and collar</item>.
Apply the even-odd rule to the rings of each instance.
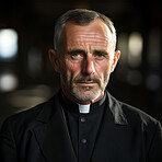
[[[68,92],[68,90],[65,88],[65,85],[63,85],[62,83],[61,83],[61,89],[62,89],[65,95],[66,95],[70,101],[72,101],[72,102],[74,102],[74,103],[78,103],[78,104],[81,104],[81,105],[88,105],[88,104],[95,103],[95,102],[97,102],[99,100],[101,100],[102,96],[104,95],[104,93],[102,92],[101,95],[100,95],[97,99],[95,99],[95,100],[92,100],[92,101],[80,101],[80,100],[78,100],[77,97],[74,97],[70,92]]]

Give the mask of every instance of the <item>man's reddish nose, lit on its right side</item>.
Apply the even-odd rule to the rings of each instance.
[[[84,59],[82,71],[84,74],[92,74],[95,72],[94,61],[92,58],[88,57]]]

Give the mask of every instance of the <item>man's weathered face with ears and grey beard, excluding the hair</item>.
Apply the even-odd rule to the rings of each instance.
[[[101,20],[85,26],[68,22],[61,40],[60,54],[50,50],[49,56],[55,70],[60,72],[62,89],[80,102],[96,100],[119,58],[108,27]]]

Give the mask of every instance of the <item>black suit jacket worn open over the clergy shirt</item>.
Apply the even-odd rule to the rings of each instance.
[[[106,95],[90,162],[162,162],[161,124],[108,92]],[[0,131],[0,162],[78,162],[61,107],[57,93],[48,102],[9,117]]]

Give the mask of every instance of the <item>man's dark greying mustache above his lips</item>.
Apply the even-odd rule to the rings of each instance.
[[[85,76],[85,77],[78,76],[73,80],[74,83],[89,82],[89,81],[96,82],[97,84],[101,84],[100,78],[94,77],[94,76]]]

